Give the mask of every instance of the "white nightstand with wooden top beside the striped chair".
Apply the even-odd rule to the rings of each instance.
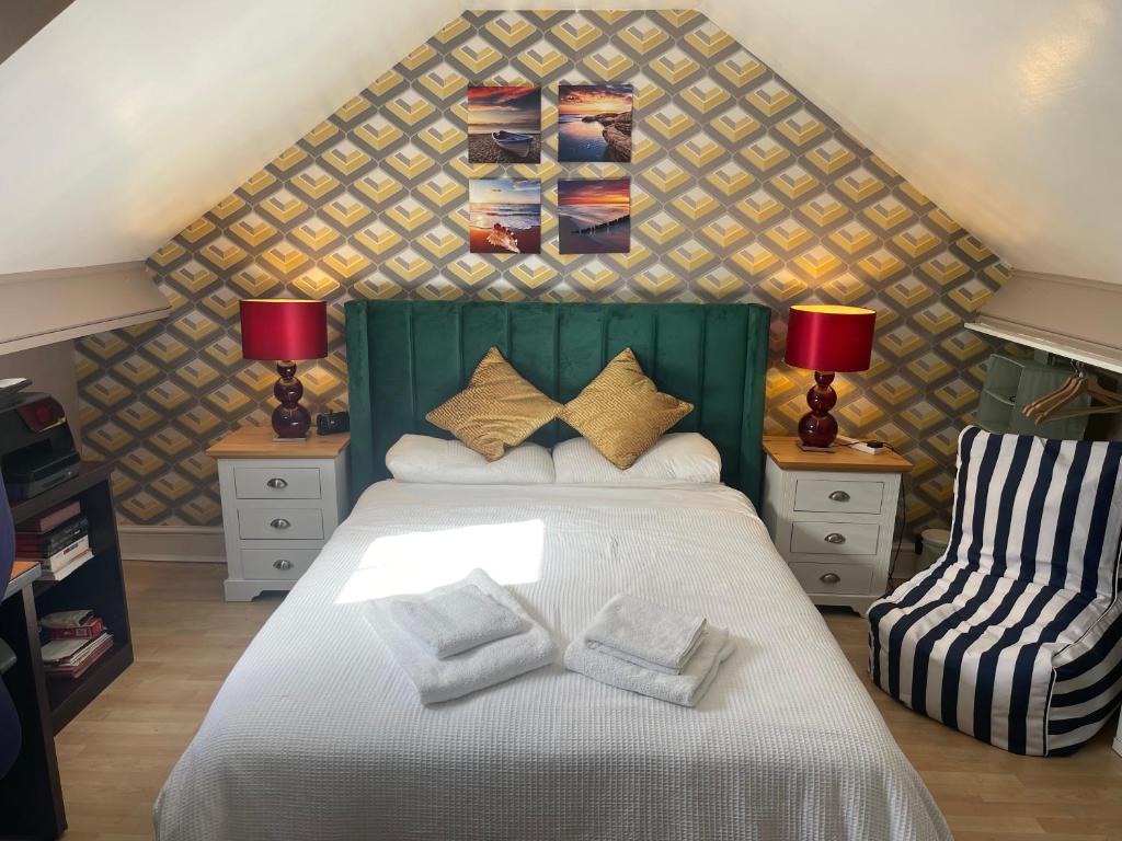
[[[807,453],[798,441],[764,437],[763,520],[815,604],[864,613],[888,589],[900,477],[911,462],[847,446]]]

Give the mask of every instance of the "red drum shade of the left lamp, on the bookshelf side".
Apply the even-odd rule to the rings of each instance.
[[[241,302],[245,359],[301,360],[328,355],[328,305],[322,301],[251,298]]]

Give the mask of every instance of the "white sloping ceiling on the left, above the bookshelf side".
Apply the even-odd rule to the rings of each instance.
[[[77,0],[0,64],[0,275],[144,259],[459,9]]]

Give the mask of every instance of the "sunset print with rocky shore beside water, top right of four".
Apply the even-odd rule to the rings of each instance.
[[[561,85],[558,123],[558,160],[631,163],[631,85]]]

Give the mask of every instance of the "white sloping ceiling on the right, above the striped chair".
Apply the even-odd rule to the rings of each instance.
[[[1009,264],[1122,283],[1122,3],[701,9]]]

